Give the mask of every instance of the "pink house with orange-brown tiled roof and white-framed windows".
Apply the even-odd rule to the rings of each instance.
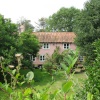
[[[61,52],[66,49],[75,50],[74,44],[75,34],[73,32],[36,32],[41,43],[41,49],[38,52],[38,57],[35,57],[33,63],[41,66],[45,61],[45,55],[52,55],[56,47],[60,47]]]

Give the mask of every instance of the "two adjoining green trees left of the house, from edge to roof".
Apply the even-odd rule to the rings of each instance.
[[[15,64],[15,54],[22,53],[23,61],[29,63],[29,55],[34,57],[39,50],[39,41],[31,30],[18,35],[17,25],[0,15],[0,56],[6,65]],[[24,66],[27,66],[24,63]]]

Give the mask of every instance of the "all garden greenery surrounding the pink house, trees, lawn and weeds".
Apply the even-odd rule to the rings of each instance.
[[[25,24],[21,34],[19,24]],[[37,32],[75,32],[77,46],[62,53],[57,47],[42,69],[30,60],[41,48],[34,27],[29,20],[19,24],[0,14],[0,100],[100,100],[100,0],[87,1],[82,10],[62,8],[41,21]],[[79,55],[84,70],[76,72]]]

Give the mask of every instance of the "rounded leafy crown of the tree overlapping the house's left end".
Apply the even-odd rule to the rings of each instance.
[[[36,53],[39,50],[39,41],[34,34],[31,32],[24,32],[20,35],[19,41],[19,52],[22,52],[23,55],[27,55],[29,53],[36,56]]]

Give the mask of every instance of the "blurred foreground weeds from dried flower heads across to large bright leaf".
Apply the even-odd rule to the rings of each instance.
[[[26,87],[25,89],[20,88],[20,91],[16,90],[16,87],[21,87],[23,83],[27,82],[28,84],[32,83],[34,78],[33,72],[28,72],[26,77],[23,77],[23,81],[20,82],[20,67],[21,67],[21,54],[15,55],[18,61],[18,66],[16,68],[13,65],[9,65],[9,67],[5,68],[3,66],[3,58],[0,58],[0,66],[4,76],[5,83],[0,82],[0,89],[7,94],[7,98],[9,100],[53,100],[56,96],[62,93],[65,94],[64,96],[60,97],[61,99],[66,100],[66,93],[72,87],[72,81],[68,81],[67,83],[63,84],[61,89],[55,90],[54,93],[49,94],[49,88],[45,88],[41,91],[36,91],[32,87]],[[6,74],[8,73],[11,76],[11,82],[7,83]],[[51,82],[50,86],[52,86],[53,82]]]

